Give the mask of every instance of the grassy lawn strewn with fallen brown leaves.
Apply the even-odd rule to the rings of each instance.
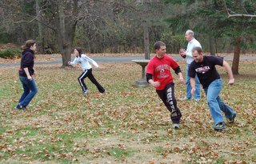
[[[234,86],[218,67],[221,97],[238,114],[223,132],[213,130],[204,94],[201,102],[180,100],[185,84],[175,74],[180,130],[173,130],[154,88],[134,87],[140,66],[99,64],[93,73],[106,94],[86,79],[87,96],[78,85],[78,66],[36,66],[38,94],[25,112],[14,110],[22,94],[18,67],[0,68],[0,163],[256,162],[256,61],[240,62]]]

